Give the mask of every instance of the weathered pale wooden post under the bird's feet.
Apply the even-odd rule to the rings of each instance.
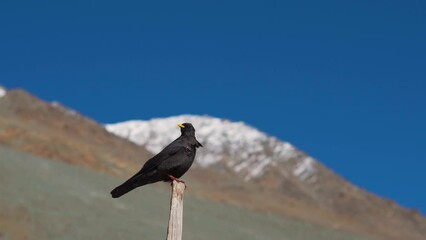
[[[185,192],[185,183],[173,181],[172,185],[167,240],[182,240],[183,193]]]

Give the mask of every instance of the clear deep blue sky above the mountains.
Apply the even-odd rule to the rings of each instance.
[[[425,1],[58,2],[0,2],[1,84],[102,123],[245,121],[426,213]]]

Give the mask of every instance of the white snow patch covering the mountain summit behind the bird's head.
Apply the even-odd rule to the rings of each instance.
[[[197,152],[196,166],[222,164],[242,175],[245,180],[260,177],[265,169],[292,159],[300,159],[292,174],[301,180],[309,179],[315,171],[313,159],[296,150],[290,143],[270,137],[243,122],[210,116],[180,115],[149,121],[132,120],[107,124],[105,127],[109,132],[143,145],[156,154],[179,137],[177,124],[184,122],[194,125],[195,135],[204,145]]]

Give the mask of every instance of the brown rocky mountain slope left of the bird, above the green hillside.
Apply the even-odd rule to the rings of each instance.
[[[98,171],[120,174],[150,155],[95,121],[24,90],[0,97],[0,144]]]

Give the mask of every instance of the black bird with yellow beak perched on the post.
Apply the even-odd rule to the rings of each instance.
[[[146,161],[142,169],[129,180],[111,191],[113,198],[121,197],[131,190],[159,181],[179,181],[194,162],[195,153],[201,143],[195,138],[191,123],[178,124],[181,135],[160,153]]]

